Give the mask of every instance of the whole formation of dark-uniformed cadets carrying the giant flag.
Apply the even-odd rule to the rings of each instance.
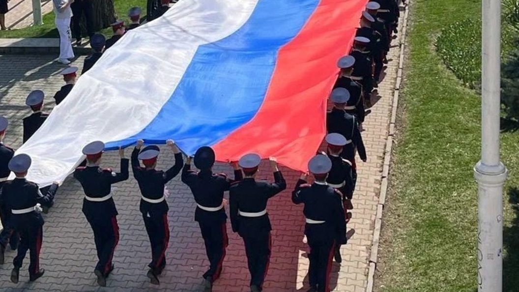
[[[162,3],[169,3],[163,0]],[[166,7],[166,6],[165,6]],[[132,8],[132,24],[138,26],[141,10]],[[366,161],[366,151],[361,137],[365,108],[370,107],[370,95],[377,87],[383,63],[387,63],[392,33],[396,31],[398,5],[393,0],[378,0],[366,5],[360,20],[361,28],[354,38],[350,55],[340,58],[337,66],[339,77],[331,92],[334,108],[327,114],[326,128],[329,132],[325,140],[327,152],[318,153],[308,163],[308,172],[313,183],[307,183],[307,174],[297,181],[292,192],[294,204],[304,204],[306,217],[305,235],[310,247],[309,292],[328,292],[330,265],[332,259],[342,261],[339,247],[347,242],[346,224],[353,209],[352,197],[357,181],[356,153]],[[108,41],[102,35],[91,39],[94,53],[85,60],[82,73],[92,68],[101,57],[103,49],[113,45],[124,35],[124,23],[113,25],[114,36]],[[66,98],[74,86],[77,68],[63,70],[64,85],[54,96],[56,104]],[[26,99],[33,114],[23,119],[23,142],[27,141],[43,124],[48,116],[43,113],[44,92],[32,91]],[[0,141],[6,135],[8,121],[0,117]],[[140,211],[151,244],[152,259],[148,264],[147,276],[151,283],[159,284],[159,276],[166,267],[166,250],[169,242],[168,204],[165,200],[165,185],[181,173],[181,180],[193,193],[197,207],[195,221],[199,223],[203,237],[209,269],[203,274],[204,291],[211,291],[213,283],[222,272],[222,263],[228,245],[227,215],[229,206],[230,223],[233,232],[243,238],[250,271],[250,289],[262,291],[271,253],[272,226],[266,210],[269,198],[286,188],[285,180],[278,169],[276,159],[271,157],[270,166],[274,183],[256,180],[261,157],[250,153],[240,160],[231,162],[234,177],[214,174],[212,167],[215,153],[210,147],[196,151],[192,169],[192,157],[184,164],[182,152],[172,140],[167,145],[174,153],[175,164],[166,171],[155,169],[160,153],[156,145],[144,147],[144,141],[136,141],[130,160],[119,149],[120,172],[111,168],[101,168],[101,157],[105,145],[94,141],[83,148],[86,161],[74,171],[83,187],[83,213],[90,224],[99,261],[94,274],[100,286],[114,269],[112,259],[119,241],[117,208],[111,194],[111,185],[129,178],[129,165],[141,191]],[[19,270],[27,250],[30,250],[29,281],[35,281],[44,274],[39,268],[39,252],[42,246],[42,226],[40,212],[52,206],[59,183],[40,189],[37,184],[25,179],[31,166],[31,157],[19,154],[0,143],[0,214],[4,229],[0,234],[0,264],[4,263],[4,251],[9,244],[18,249],[13,260],[11,281],[18,283]],[[142,165],[141,162],[142,161]],[[10,172],[16,176],[8,180]],[[224,192],[229,191],[229,202]]]

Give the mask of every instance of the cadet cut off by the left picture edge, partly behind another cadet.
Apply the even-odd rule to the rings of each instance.
[[[2,185],[7,181],[11,171],[9,170],[9,161],[15,155],[15,150],[7,147],[4,143],[5,132],[9,122],[7,118],[0,116],[0,220],[4,229],[0,232],[0,264],[4,263],[4,253],[9,243],[12,250],[17,249],[19,234],[10,227],[9,219],[11,217],[11,209],[2,205]]]

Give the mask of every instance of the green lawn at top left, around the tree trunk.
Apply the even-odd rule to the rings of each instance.
[[[128,23],[128,10],[133,6],[139,6],[143,9],[142,16],[146,15],[146,0],[114,0],[115,12],[119,19],[124,20]],[[58,30],[54,24],[54,13],[51,11],[43,16],[43,25],[32,26],[29,28],[12,30],[12,31],[1,31],[0,38],[26,38],[26,37],[45,37],[53,38],[59,37]],[[104,29],[101,33],[106,36],[112,35],[110,28]]]

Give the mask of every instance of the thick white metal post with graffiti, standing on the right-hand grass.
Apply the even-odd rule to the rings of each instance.
[[[481,161],[474,167],[479,194],[477,289],[479,292],[501,292],[503,184],[508,174],[499,160],[501,1],[482,2]]]

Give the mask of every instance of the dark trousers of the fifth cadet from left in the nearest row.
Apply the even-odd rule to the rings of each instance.
[[[247,263],[251,274],[250,285],[256,285],[261,289],[270,263],[272,238],[270,237],[270,231],[251,233],[243,236]]]

